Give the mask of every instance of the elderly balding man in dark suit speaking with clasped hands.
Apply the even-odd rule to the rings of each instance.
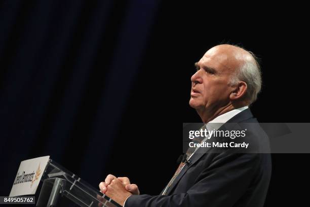
[[[240,47],[218,45],[195,63],[189,105],[202,121],[256,123],[251,139],[267,141],[248,108],[261,89],[254,55]],[[122,206],[263,206],[271,176],[270,154],[187,154],[160,195],[139,195],[128,178],[108,175],[100,190]]]

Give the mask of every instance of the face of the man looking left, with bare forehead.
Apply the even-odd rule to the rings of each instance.
[[[233,51],[211,48],[195,63],[197,72],[191,77],[189,105],[196,110],[214,110],[229,102],[231,74],[239,62]]]

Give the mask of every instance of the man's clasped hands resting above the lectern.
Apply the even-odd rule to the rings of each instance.
[[[108,175],[104,182],[99,184],[100,191],[111,199],[124,206],[126,199],[131,195],[139,195],[136,184],[131,184],[127,177]]]

